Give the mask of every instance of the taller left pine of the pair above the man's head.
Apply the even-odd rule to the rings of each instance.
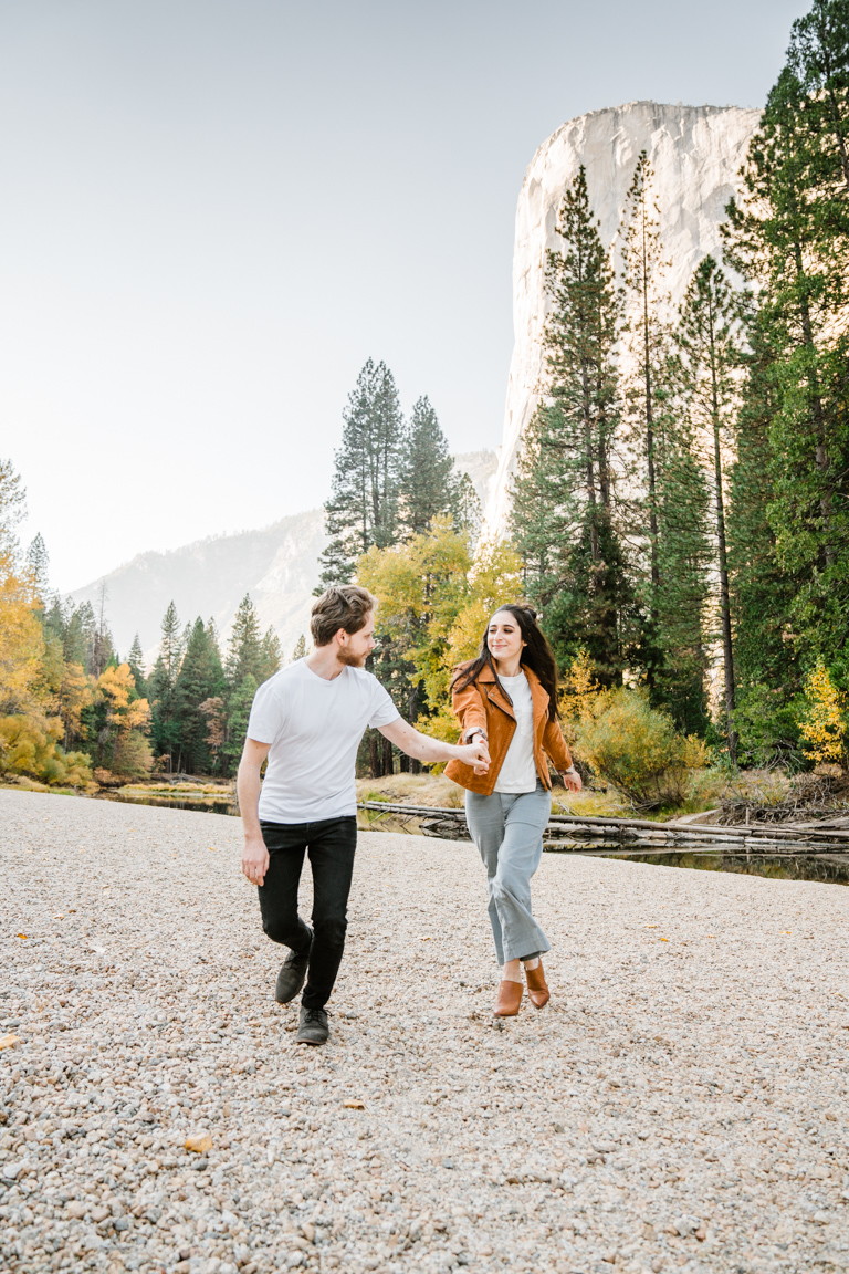
[[[369,358],[342,413],[332,494],[325,505],[330,544],[321,555],[322,587],[350,583],[354,563],[373,544],[398,538],[403,417],[392,372]]]

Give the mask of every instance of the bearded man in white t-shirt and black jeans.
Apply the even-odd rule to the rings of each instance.
[[[242,871],[258,885],[265,933],[290,948],[277,975],[279,1003],[294,1000],[307,980],[298,1043],[321,1045],[330,1033],[325,1005],[345,947],[356,848],[354,767],[365,727],[377,727],[417,761],[489,764],[481,739],[454,747],[414,730],[365,671],[374,648],[374,606],[372,594],[355,585],[322,594],[309,623],[314,650],[257,691],[239,763]],[[305,852],[313,875],[312,927],[298,915]]]

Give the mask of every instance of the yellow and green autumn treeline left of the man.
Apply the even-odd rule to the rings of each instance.
[[[24,492],[0,462],[0,773],[52,785],[146,778],[153,772],[235,772],[257,685],[281,664],[246,596],[221,654],[215,624],[183,627],[173,604],[155,664],[139,637],[121,659],[107,596],[76,606],[50,587],[38,535],[23,552],[15,526]],[[293,657],[305,652],[303,637]]]

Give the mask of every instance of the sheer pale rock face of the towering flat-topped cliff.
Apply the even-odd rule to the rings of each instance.
[[[509,488],[522,434],[538,401],[542,327],[547,310],[545,254],[558,245],[560,201],[579,166],[587,169],[589,200],[602,242],[614,248],[628,187],[640,150],[654,168],[661,234],[671,268],[666,283],[677,304],[703,256],[720,257],[719,224],[738,189],[746,147],[761,112],[741,107],[628,106],[570,120],[535,154],[516,213],[513,326],[516,345],[507,390],[504,441],[486,525],[503,534]]]

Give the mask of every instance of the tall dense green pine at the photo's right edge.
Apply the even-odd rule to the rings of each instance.
[[[840,74],[848,71],[844,59]],[[831,659],[849,619],[849,310],[845,201],[838,208],[840,200],[811,187],[821,163],[815,150],[827,141],[812,136],[824,110],[785,68],[750,144],[743,196],[728,206],[726,256],[757,287],[759,336],[770,352],[768,515],[779,564],[799,578],[794,627]],[[831,152],[834,167],[836,140]]]

